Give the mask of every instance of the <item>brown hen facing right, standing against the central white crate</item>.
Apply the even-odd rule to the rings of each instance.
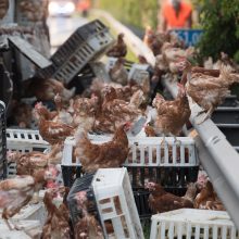
[[[128,124],[118,127],[111,141],[92,143],[86,133],[76,135],[75,155],[80,159],[85,172],[95,172],[98,168],[120,167],[128,155]]]

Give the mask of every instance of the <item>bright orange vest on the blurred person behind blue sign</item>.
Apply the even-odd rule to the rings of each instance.
[[[163,16],[167,22],[167,28],[184,28],[188,17],[191,14],[191,5],[186,2],[180,2],[180,10],[178,16],[171,3],[166,3],[163,8]]]

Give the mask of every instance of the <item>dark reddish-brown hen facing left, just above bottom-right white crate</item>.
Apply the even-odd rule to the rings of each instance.
[[[149,206],[153,213],[164,213],[177,209],[193,209],[190,199],[166,192],[159,184],[150,181],[146,184],[146,188],[150,191]]]

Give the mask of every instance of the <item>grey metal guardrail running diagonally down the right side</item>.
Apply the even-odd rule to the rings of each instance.
[[[118,33],[125,34],[126,43],[135,54],[142,54],[150,64],[154,65],[155,58],[151,50],[126,26],[106,12],[97,11],[97,14],[105,17]],[[176,97],[176,84],[171,84],[167,79],[162,81],[172,96]],[[211,120],[200,125],[196,123],[196,116],[201,111],[198,104],[190,103],[190,122],[198,131],[196,144],[199,150],[200,161],[212,179],[218,197],[239,229],[239,154]],[[188,134],[187,130],[185,133],[186,135]]]

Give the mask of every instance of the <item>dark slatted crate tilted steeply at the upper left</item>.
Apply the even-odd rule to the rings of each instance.
[[[51,56],[52,65],[38,72],[70,83],[90,61],[104,53],[114,42],[109,28],[99,20],[80,26]]]

